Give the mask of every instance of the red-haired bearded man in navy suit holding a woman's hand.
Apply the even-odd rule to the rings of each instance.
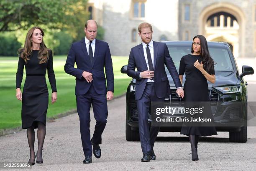
[[[142,43],[131,49],[127,66],[128,76],[136,79],[135,99],[143,152],[141,161],[156,159],[153,147],[160,127],[151,127],[149,131],[148,112],[151,102],[164,101],[164,98],[169,97],[171,93],[164,65],[174,80],[177,94],[184,97],[179,74],[169,55],[169,50],[165,43],[153,41],[152,33],[152,26],[149,23],[143,22],[138,26]]]

